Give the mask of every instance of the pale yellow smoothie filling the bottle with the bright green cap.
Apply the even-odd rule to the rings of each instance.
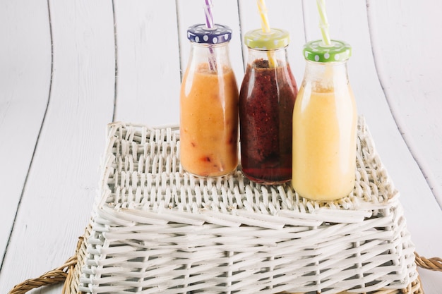
[[[301,85],[293,114],[293,188],[311,200],[336,200],[354,188],[357,111],[350,85]]]

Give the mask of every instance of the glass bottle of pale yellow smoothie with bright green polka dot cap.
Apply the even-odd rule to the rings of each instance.
[[[357,107],[348,80],[349,44],[308,42],[304,79],[294,104],[292,187],[311,200],[352,192],[356,169]]]

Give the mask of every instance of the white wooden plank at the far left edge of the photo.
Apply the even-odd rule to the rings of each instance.
[[[51,38],[46,1],[0,1],[0,20],[2,258],[49,99]]]

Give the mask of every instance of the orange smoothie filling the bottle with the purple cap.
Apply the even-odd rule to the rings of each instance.
[[[232,68],[207,63],[184,74],[181,85],[180,160],[198,176],[222,176],[238,164],[238,87]]]

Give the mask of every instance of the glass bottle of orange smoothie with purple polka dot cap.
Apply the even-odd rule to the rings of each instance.
[[[229,61],[232,30],[193,25],[189,65],[181,82],[181,166],[196,176],[223,176],[238,165],[239,91]]]

